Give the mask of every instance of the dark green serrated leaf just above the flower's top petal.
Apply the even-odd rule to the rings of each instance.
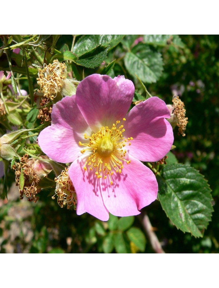
[[[74,62],[78,65],[95,68],[98,67],[107,58],[108,47],[97,46],[93,50],[83,54]]]

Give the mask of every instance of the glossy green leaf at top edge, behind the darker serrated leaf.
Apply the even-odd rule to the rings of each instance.
[[[124,35],[84,35],[75,43],[73,52],[81,56],[99,45],[108,47],[111,50],[120,43],[123,37]]]

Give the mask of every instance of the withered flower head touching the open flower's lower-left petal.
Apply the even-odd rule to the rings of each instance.
[[[77,197],[75,188],[69,177],[68,168],[65,168],[61,175],[55,178],[55,181],[56,190],[54,196],[52,196],[52,199],[55,199],[55,195],[57,195],[57,203],[61,208],[67,204],[67,209],[69,209],[71,206],[76,209]]]

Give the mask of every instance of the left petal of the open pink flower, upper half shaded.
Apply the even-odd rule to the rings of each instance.
[[[52,125],[39,133],[38,142],[50,158],[69,163],[81,155],[78,142],[85,142],[84,133],[89,135],[91,130],[76,105],[75,95],[66,96],[53,106]]]

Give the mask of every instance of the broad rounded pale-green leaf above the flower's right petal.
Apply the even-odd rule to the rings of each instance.
[[[140,50],[137,50],[139,48]],[[163,71],[161,54],[152,51],[144,44],[138,45],[133,52],[128,52],[124,57],[124,63],[129,73],[133,76],[137,75],[142,82],[156,82]]]

